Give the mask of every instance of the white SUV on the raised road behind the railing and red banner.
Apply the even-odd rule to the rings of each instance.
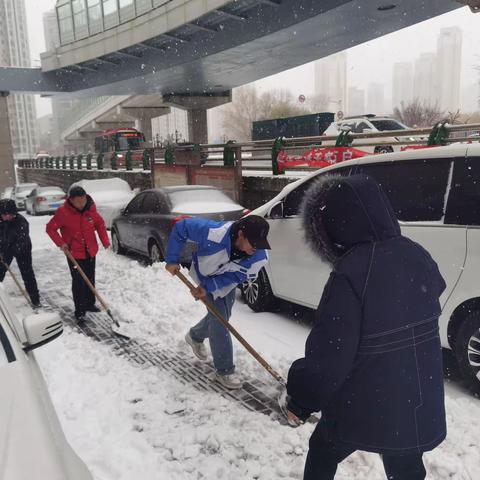
[[[338,122],[333,122],[323,133],[324,135],[338,135],[340,132],[348,130],[351,133],[375,133],[388,132],[394,130],[407,130],[408,127],[398,120],[389,117],[377,117],[375,115],[364,115],[361,117],[347,117]],[[415,140],[411,137],[381,137],[378,140],[364,139],[354,140],[353,146],[360,147],[362,150],[370,153],[390,153],[399,151],[400,146],[395,145],[401,140]],[[377,145],[372,146],[375,141]],[[323,142],[324,145],[334,145],[334,142]],[[362,145],[370,144],[369,146]]]

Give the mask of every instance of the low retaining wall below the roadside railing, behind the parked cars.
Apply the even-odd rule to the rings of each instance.
[[[151,188],[150,172],[126,172],[111,170],[55,170],[47,168],[19,168],[20,182],[35,182],[40,186],[56,185],[65,191],[79,180],[118,177],[128,182],[132,188]],[[253,210],[275,197],[282,188],[295,181],[289,177],[243,177],[243,205]]]

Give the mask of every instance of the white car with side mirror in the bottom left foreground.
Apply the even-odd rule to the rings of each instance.
[[[65,438],[33,352],[62,331],[56,313],[19,315],[0,286],[2,479],[93,480]]]

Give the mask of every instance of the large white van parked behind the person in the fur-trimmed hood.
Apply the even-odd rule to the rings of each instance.
[[[242,285],[254,311],[275,298],[316,309],[330,267],[306,245],[300,208],[305,191],[324,175],[364,173],[384,188],[403,235],[433,256],[447,288],[441,297],[442,346],[453,350],[467,381],[480,390],[480,144],[409,150],[350,160],[287,185],[252,213],[270,224],[269,263]]]

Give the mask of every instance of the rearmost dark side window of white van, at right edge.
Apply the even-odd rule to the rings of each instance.
[[[445,223],[480,225],[480,157],[455,160]]]

